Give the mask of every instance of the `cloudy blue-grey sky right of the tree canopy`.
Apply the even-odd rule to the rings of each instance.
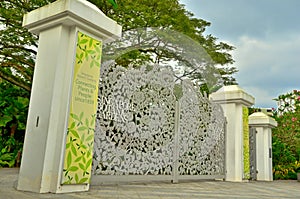
[[[300,0],[180,0],[211,22],[205,34],[233,45],[239,86],[254,107],[276,108],[281,94],[300,90]]]

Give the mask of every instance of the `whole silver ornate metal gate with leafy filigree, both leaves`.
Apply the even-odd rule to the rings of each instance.
[[[94,179],[224,177],[225,118],[219,105],[188,80],[175,85],[168,67],[101,70]]]

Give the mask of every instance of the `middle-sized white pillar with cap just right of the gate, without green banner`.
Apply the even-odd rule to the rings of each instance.
[[[254,97],[237,85],[224,86],[210,95],[219,103],[227,119],[225,180],[241,182],[244,174],[243,158],[243,106],[254,104]]]

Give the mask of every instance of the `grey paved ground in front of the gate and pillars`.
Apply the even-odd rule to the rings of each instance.
[[[36,194],[17,191],[14,186],[18,169],[0,169],[0,199],[188,199],[188,198],[297,198],[300,199],[300,183],[297,181],[274,182],[221,182],[190,181],[179,184],[166,182],[132,183],[91,186],[90,191],[70,194]]]

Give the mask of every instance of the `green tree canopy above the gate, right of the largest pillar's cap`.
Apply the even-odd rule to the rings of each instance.
[[[94,1],[94,3],[96,2],[99,1]],[[174,61],[177,59],[177,61],[179,61],[178,65],[180,67],[184,67],[185,69],[183,72],[184,74],[181,74],[181,76],[188,76],[191,79],[201,80],[203,78],[203,74],[201,74],[199,71],[202,71],[203,73],[204,70],[206,70],[206,72],[208,70],[214,70],[213,73],[218,73],[220,76],[218,78],[221,78],[225,85],[236,84],[236,80],[232,77],[232,75],[237,72],[237,69],[227,66],[227,64],[232,64],[234,62],[229,54],[234,47],[223,42],[218,43],[217,38],[213,37],[212,35],[205,36],[204,31],[206,27],[210,25],[210,23],[202,19],[194,18],[193,14],[185,10],[184,5],[179,4],[178,0],[125,0],[120,1],[119,9],[105,9],[105,7],[102,7],[101,9],[106,15],[123,25],[123,30],[125,31],[123,37],[126,37],[126,32],[128,32],[127,35],[130,36],[125,39],[128,41],[135,39],[135,41],[131,41],[131,43],[133,43],[135,46],[141,46],[141,43],[145,44],[145,40],[147,39],[150,41],[146,43],[146,45],[149,45],[149,48],[134,48],[133,51],[129,51],[125,55],[126,59],[121,59],[122,61],[125,61],[125,63],[122,64],[133,63],[139,59],[151,60],[150,57],[155,58],[152,60],[152,62],[159,63],[170,60]],[[151,10],[151,12],[149,12],[149,10]],[[147,27],[149,32],[153,32],[153,29],[149,29],[150,27],[157,27],[159,30],[165,30],[167,34],[163,35],[163,37],[168,38],[169,42],[164,43],[166,40],[162,41],[162,34],[156,37],[155,41],[153,39],[154,36],[152,38],[150,36],[149,39],[149,35],[145,37],[135,31],[136,29],[145,30]],[[188,39],[183,39],[184,41],[188,41],[188,43],[183,41],[179,44],[178,38],[182,39],[182,36],[177,34],[171,37],[174,32],[172,34],[168,34],[170,33],[170,30],[183,33],[190,38],[190,41],[188,41]],[[193,50],[194,53],[197,53],[199,52],[199,49],[198,51],[195,51],[197,46],[192,45],[192,42],[198,43],[211,57],[211,61],[213,61],[213,63],[211,63],[209,69],[206,68],[207,65],[203,67],[204,65],[201,63],[201,60],[199,60],[199,55],[193,55]],[[174,48],[174,43],[175,46],[178,44],[176,48]],[[167,48],[176,49],[176,52],[171,52]],[[182,52],[182,50],[187,49],[190,52],[187,57],[191,59],[184,60],[182,59],[184,57],[182,56],[182,53],[185,52]],[[118,48],[116,50],[118,50]],[[120,60],[118,64],[120,64]],[[219,67],[215,68],[212,67],[212,65],[218,65]]]

